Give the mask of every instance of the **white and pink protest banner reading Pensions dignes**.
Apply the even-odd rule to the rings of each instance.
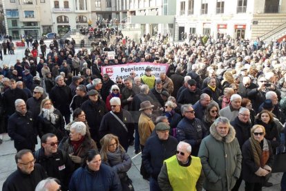
[[[109,78],[116,81],[117,76],[122,77],[123,79],[130,75],[130,72],[133,70],[136,73],[136,76],[142,76],[145,74],[145,69],[151,68],[152,75],[155,78],[159,78],[159,74],[168,71],[169,65],[168,64],[155,64],[150,62],[138,62],[138,63],[131,63],[131,64],[118,64],[112,66],[102,66],[102,75],[107,73]]]

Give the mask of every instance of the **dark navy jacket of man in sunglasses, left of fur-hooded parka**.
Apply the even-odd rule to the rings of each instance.
[[[191,145],[191,155],[198,156],[200,143],[208,132],[198,118],[190,120],[184,117],[178,124],[176,134],[178,141],[184,141]]]

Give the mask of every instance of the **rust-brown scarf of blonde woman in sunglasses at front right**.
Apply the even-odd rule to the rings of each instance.
[[[263,149],[261,149],[260,143],[253,137],[249,138],[249,141],[254,154],[254,163],[258,167],[264,167],[269,158],[269,147],[266,138],[263,138]]]

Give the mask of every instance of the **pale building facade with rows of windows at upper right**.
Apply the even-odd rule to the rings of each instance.
[[[286,22],[286,0],[177,1],[175,40],[182,33],[256,39]]]

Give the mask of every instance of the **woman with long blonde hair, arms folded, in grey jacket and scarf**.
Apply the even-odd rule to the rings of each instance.
[[[128,187],[133,187],[131,184],[132,181],[126,173],[131,168],[131,158],[125,152],[122,145],[120,145],[118,137],[113,134],[106,134],[100,140],[100,144],[102,145],[102,149],[100,150],[102,162],[110,165],[117,172],[122,190],[131,190]]]

